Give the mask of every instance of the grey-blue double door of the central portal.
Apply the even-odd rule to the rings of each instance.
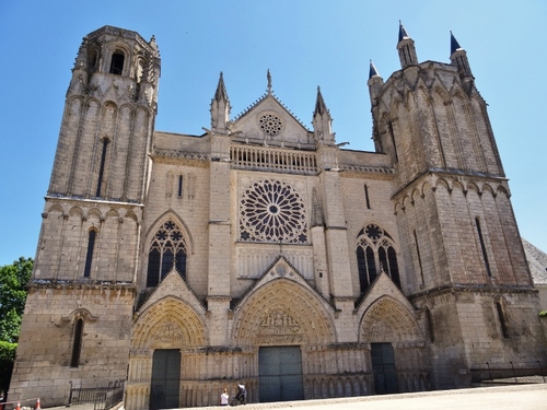
[[[299,345],[260,348],[258,374],[260,402],[304,399],[302,352]]]

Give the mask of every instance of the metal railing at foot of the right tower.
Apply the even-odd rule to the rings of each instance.
[[[486,362],[484,367],[469,368],[472,382],[479,383],[485,380],[507,380],[514,383],[535,382],[546,383],[547,367],[539,361],[528,363],[504,363],[499,364]]]

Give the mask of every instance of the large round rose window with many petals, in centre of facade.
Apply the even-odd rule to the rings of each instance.
[[[264,179],[249,186],[240,202],[240,239],[307,242],[304,202],[289,185]]]

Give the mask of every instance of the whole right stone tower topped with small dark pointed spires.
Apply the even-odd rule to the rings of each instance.
[[[450,63],[418,62],[403,25],[397,49],[401,69],[384,83],[371,63],[368,84],[375,148],[395,169],[403,288],[439,358],[434,387],[465,386],[493,358],[542,355],[542,326],[526,316],[537,294],[466,51],[451,34]]]

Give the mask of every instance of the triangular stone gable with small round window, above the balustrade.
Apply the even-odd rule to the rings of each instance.
[[[266,94],[247,112],[233,120],[232,133],[241,138],[261,140],[266,144],[272,141],[276,145],[289,143],[313,143],[313,132],[309,131],[294,116],[272,95]]]

